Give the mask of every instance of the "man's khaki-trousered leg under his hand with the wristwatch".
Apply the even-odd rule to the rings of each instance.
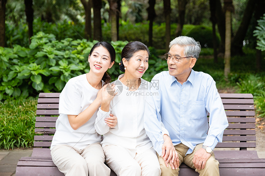
[[[204,169],[198,170],[194,167],[192,162],[194,158],[194,154],[197,150],[202,148],[203,143],[196,145],[193,152],[191,154],[187,154],[184,158],[183,162],[190,166],[191,168],[195,169],[196,172],[200,174],[200,176],[218,176],[219,175],[219,162],[215,159],[214,154],[210,156],[210,158],[206,161],[206,165]]]

